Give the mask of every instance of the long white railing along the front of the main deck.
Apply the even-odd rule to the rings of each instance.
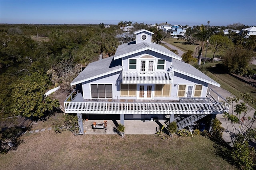
[[[64,102],[65,113],[208,115],[228,111],[227,103]]]

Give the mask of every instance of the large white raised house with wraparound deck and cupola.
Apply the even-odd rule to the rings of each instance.
[[[135,41],[119,45],[112,57],[90,63],[72,81],[76,90],[64,101],[64,108],[65,113],[78,115],[80,133],[82,114],[115,115],[123,125],[124,120],[164,119],[176,121],[181,129],[207,115],[228,111],[228,104],[209,95],[208,85],[220,84],[152,43],[153,32],[134,34]]]

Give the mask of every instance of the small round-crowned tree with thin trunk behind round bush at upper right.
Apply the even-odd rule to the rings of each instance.
[[[222,36],[222,35],[211,36],[209,42],[213,52],[212,62],[214,62],[214,57],[216,52],[220,52],[224,50],[226,47],[232,45],[231,40],[228,37]]]

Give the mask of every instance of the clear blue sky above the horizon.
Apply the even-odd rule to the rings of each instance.
[[[256,25],[256,0],[0,0],[0,23]]]

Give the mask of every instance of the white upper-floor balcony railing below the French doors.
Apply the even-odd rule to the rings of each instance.
[[[123,84],[172,84],[173,71],[122,71]]]

